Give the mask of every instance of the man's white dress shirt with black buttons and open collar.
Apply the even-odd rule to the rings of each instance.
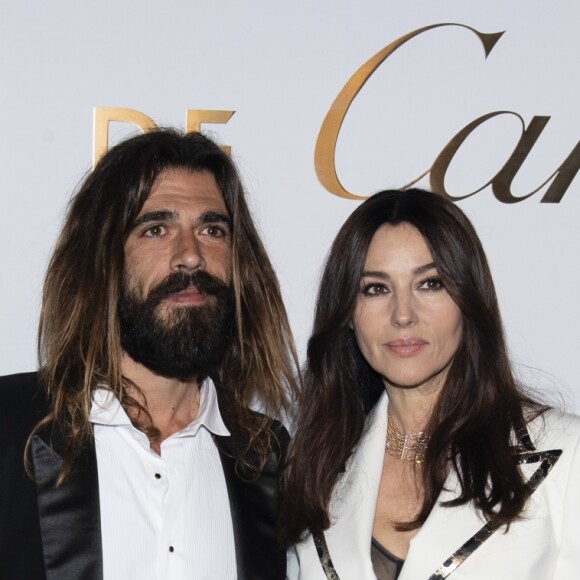
[[[235,580],[228,493],[212,439],[229,435],[215,386],[198,417],[150,449],[110,391],[93,395],[104,580]]]

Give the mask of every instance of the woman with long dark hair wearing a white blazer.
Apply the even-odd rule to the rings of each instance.
[[[579,442],[579,418],[515,380],[463,212],[416,189],[360,205],[308,345],[283,482],[289,576],[577,578]]]

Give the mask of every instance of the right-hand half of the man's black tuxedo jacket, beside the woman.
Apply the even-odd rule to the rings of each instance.
[[[288,434],[276,428],[279,445],[270,452],[256,478],[243,468],[236,473],[230,437],[215,437],[224,470],[236,545],[238,580],[284,580],[286,552],[277,539],[278,476]]]

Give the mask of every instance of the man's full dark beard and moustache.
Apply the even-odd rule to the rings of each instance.
[[[206,295],[203,304],[174,303],[162,312],[165,298],[191,286]],[[171,274],[145,298],[125,278],[118,312],[125,352],[163,377],[188,381],[209,376],[233,338],[231,286],[203,271]]]

